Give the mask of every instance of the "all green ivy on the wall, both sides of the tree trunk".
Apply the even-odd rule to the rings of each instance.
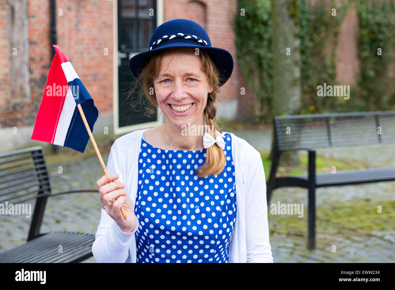
[[[340,3],[323,0],[314,4],[311,0],[294,1],[297,11],[289,13],[298,17],[295,23],[300,26],[302,106],[299,113],[394,109],[395,0]],[[335,85],[340,25],[352,4],[356,5],[359,18],[360,73],[358,84],[351,88],[350,99],[340,104],[336,97],[318,97],[317,86]],[[274,77],[271,0],[238,0],[238,5],[234,26],[237,58],[248,88],[259,100],[252,120],[271,122]]]

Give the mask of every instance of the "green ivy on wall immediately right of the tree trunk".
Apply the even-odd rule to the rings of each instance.
[[[301,114],[321,113],[337,108],[337,98],[318,97],[317,86],[335,85],[336,51],[340,25],[349,2],[298,0],[301,40]],[[332,10],[335,9],[335,10]]]

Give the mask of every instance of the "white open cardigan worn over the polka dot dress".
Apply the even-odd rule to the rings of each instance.
[[[138,182],[138,157],[141,138],[147,129],[134,131],[115,140],[111,146],[107,170],[118,173],[117,181],[135,204]],[[225,132],[227,133],[227,132]],[[229,262],[273,263],[267,221],[266,181],[260,153],[244,139],[231,135],[235,165],[236,222],[229,240]],[[123,232],[102,209],[92,253],[98,263],[135,263],[135,232],[139,221],[135,217],[134,231]]]

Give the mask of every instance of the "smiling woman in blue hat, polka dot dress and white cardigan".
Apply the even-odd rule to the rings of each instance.
[[[129,66],[166,122],[111,147],[110,174],[96,183],[97,262],[273,262],[260,153],[215,127],[231,54],[196,22],[175,19]]]

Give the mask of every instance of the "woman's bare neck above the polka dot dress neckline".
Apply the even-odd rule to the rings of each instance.
[[[203,120],[201,120],[199,123],[190,124],[190,131],[192,131],[194,126],[196,126],[196,128],[203,128],[203,125]],[[186,124],[186,126],[188,126],[188,124]],[[196,129],[195,132],[198,132],[198,134],[188,134],[188,127],[186,129],[184,127],[177,128],[171,123],[167,122],[167,120],[163,125],[161,125],[161,127],[162,138],[167,144],[168,148],[187,151],[201,150],[203,148],[203,135],[199,134],[200,130]]]

